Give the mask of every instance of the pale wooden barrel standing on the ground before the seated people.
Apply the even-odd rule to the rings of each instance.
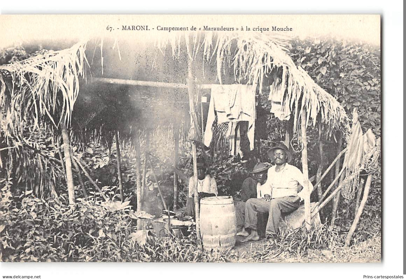
[[[200,230],[206,250],[226,251],[235,245],[237,219],[233,198],[208,197],[200,201]]]

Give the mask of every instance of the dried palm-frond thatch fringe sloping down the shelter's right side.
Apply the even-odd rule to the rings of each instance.
[[[200,43],[199,39],[196,39],[197,36],[201,34],[194,33],[192,39],[187,33],[177,34],[161,38],[155,45],[162,53],[170,47],[173,58],[180,56],[181,45],[184,43],[190,58],[196,57],[199,48],[202,48],[205,61],[216,60],[220,84],[222,74],[226,69],[232,68],[235,82],[258,84],[261,91],[263,85],[272,85],[264,84],[264,77],[279,68],[282,72],[282,88],[286,90],[282,103],[295,110],[294,130],[300,121],[302,110],[305,110],[307,125],[311,123],[315,126],[317,119],[321,119],[328,136],[337,131],[348,134],[349,121],[344,108],[317,85],[304,69],[296,67],[287,54],[289,39],[255,32],[205,32],[203,42]]]

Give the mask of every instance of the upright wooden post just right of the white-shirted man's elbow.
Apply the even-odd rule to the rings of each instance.
[[[306,111],[302,110],[302,119],[300,120],[300,127],[302,132],[303,150],[302,150],[302,168],[303,168],[303,188],[307,189],[304,196],[304,220],[306,223],[306,230],[311,229],[310,217],[310,190],[309,190],[309,169],[307,164],[307,136],[306,136]],[[310,239],[308,238],[308,242]]]

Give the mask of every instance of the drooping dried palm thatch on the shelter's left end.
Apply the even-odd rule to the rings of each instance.
[[[69,125],[80,78],[86,78],[86,67],[90,67],[85,49],[86,42],[80,42],[69,49],[0,66],[0,106],[5,112],[2,126],[7,127],[6,136],[9,132],[21,134],[18,124],[24,119],[32,119],[37,127],[45,116],[55,127]]]

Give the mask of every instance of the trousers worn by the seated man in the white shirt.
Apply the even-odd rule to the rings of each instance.
[[[276,235],[282,213],[289,213],[298,209],[299,196],[289,196],[266,201],[264,199],[248,199],[245,204],[244,227],[257,230],[257,212],[269,212],[266,225],[266,235]]]

